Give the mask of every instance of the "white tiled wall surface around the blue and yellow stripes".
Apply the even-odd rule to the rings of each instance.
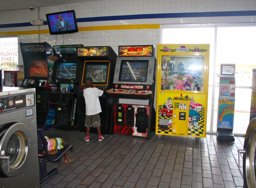
[[[219,12],[256,10],[256,0],[102,0],[81,4],[47,6],[0,12],[0,25],[27,23],[30,20],[46,20],[46,14],[75,10],[77,18],[99,16],[123,16],[137,14],[182,13],[182,12]],[[146,24],[206,24],[206,23],[253,23],[256,16],[220,16],[162,19],[109,20],[78,23],[79,27],[108,25],[146,25]],[[2,28],[0,33],[38,30],[38,34],[18,36],[19,42],[44,42],[50,45],[83,44],[84,46],[111,46],[118,54],[118,45],[155,45],[159,43],[159,29],[144,30],[101,30],[79,32],[66,35],[40,34],[48,29],[47,25],[16,28]],[[157,50],[157,49],[156,49]],[[19,64],[23,64],[19,50]],[[138,104],[138,101],[124,99],[123,103]],[[145,105],[145,101],[141,105]]]

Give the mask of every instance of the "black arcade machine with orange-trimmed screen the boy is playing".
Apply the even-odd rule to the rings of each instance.
[[[83,57],[84,67],[82,72],[80,88],[78,88],[78,124],[79,131],[86,132],[84,126],[85,119],[85,102],[83,90],[86,88],[85,78],[92,78],[93,85],[96,87],[103,86],[104,93],[99,97],[101,104],[101,134],[109,134],[109,125],[111,119],[111,104],[106,97],[106,90],[113,84],[113,75],[117,59],[117,54],[110,46],[80,47],[77,49],[77,56]],[[98,133],[96,128],[91,128],[91,133]]]

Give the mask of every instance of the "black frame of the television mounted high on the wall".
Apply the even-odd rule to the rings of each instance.
[[[49,21],[48,16],[54,16],[54,15],[68,13],[68,12],[72,12],[73,13],[76,29],[68,30],[68,31],[56,31],[56,32],[53,32],[50,29],[50,21]],[[76,12],[75,12],[75,10],[48,13],[48,14],[46,14],[46,19],[47,19],[47,25],[48,25],[48,28],[49,28],[50,35],[59,35],[59,34],[68,34],[68,33],[77,33],[78,32],[78,25],[77,25],[77,21],[76,21]]]

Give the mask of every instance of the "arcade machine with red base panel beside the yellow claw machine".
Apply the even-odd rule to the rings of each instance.
[[[110,135],[116,133],[150,139],[155,134],[154,53],[154,45],[119,46],[114,87],[107,90],[108,97],[113,98]],[[146,105],[122,104],[120,98],[143,100],[141,103]]]

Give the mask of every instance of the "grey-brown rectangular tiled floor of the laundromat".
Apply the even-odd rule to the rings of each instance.
[[[238,149],[244,137],[235,142],[217,142],[216,135],[194,138],[154,135],[150,140],[130,135],[106,135],[90,141],[79,131],[48,129],[45,135],[62,137],[73,145],[73,163],[47,162],[48,171],[59,173],[41,188],[239,188],[243,169],[238,168]],[[242,159],[241,159],[242,163]]]

